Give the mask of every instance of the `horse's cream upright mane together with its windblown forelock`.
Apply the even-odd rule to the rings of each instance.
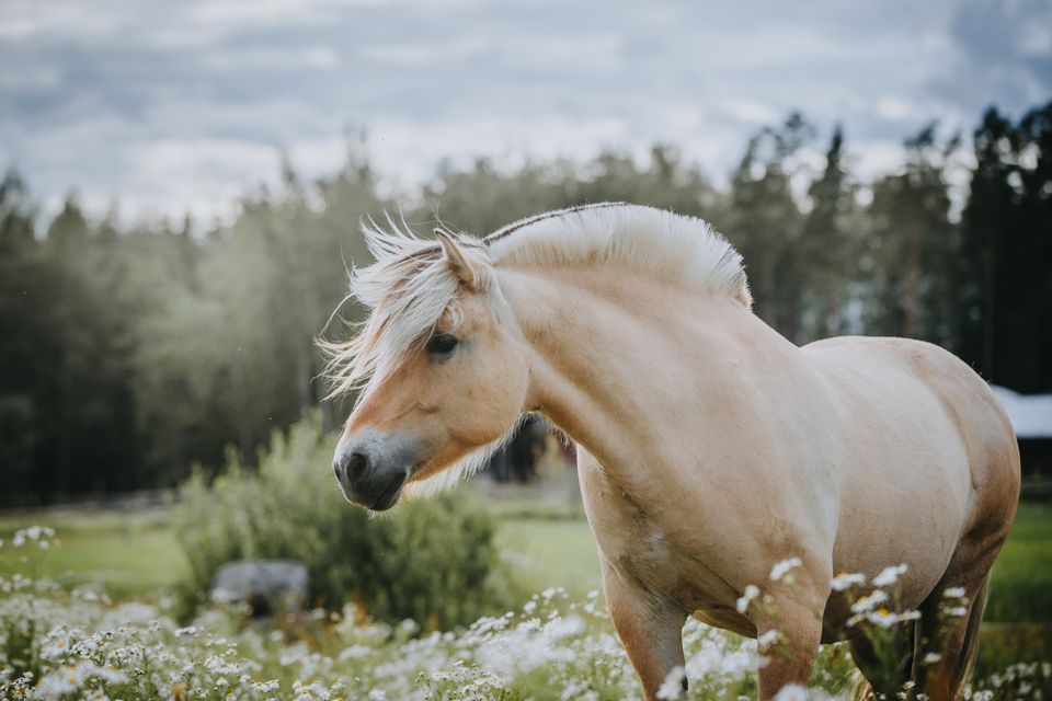
[[[388,229],[363,226],[373,265],[352,271],[351,294],[373,310],[354,338],[321,342],[329,355],[331,397],[397,367],[422,344],[444,313],[459,322],[459,281],[442,246],[388,218]],[[625,203],[602,203],[522,219],[484,239],[456,234],[484,284],[494,267],[551,268],[618,264],[710,295],[752,303],[742,256],[694,217]],[[345,300],[346,301],[346,300]]]

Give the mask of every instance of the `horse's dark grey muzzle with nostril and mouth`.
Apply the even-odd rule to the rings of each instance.
[[[348,502],[384,512],[398,502],[409,480],[412,451],[402,441],[375,432],[355,440],[343,438],[332,459],[332,471]]]

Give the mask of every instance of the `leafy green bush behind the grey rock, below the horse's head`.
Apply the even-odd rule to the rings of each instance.
[[[199,472],[190,479],[176,529],[193,602],[224,563],[273,558],[307,565],[315,604],[354,602],[376,620],[445,629],[503,605],[496,521],[478,502],[455,494],[369,516],[340,493],[333,445],[312,417],[275,433],[258,470],[231,453],[211,485]]]

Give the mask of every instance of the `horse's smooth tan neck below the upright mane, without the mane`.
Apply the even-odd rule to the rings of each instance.
[[[534,353],[530,409],[625,482],[682,461],[677,432],[705,432],[706,414],[740,394],[743,366],[764,361],[757,353],[792,348],[734,299],[630,271],[501,278]]]

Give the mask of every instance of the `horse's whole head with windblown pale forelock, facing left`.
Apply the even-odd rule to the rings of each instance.
[[[481,467],[526,402],[526,346],[487,251],[436,234],[367,231],[378,260],[352,291],[373,311],[331,346],[336,392],[362,389],[332,468],[344,496],[373,510]]]

